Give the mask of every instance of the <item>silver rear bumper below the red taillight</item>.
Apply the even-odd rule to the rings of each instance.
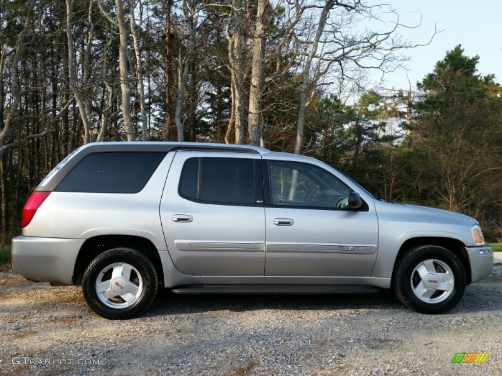
[[[71,285],[75,261],[85,239],[18,236],[12,240],[12,266],[23,277]]]

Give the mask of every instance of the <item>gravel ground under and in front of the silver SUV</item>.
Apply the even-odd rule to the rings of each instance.
[[[0,374],[500,375],[502,266],[442,315],[365,296],[179,296],[109,321],[80,287],[0,272]],[[487,352],[484,363],[451,363]]]

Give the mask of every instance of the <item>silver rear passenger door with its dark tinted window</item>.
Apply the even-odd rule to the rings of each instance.
[[[259,154],[178,151],[160,206],[167,248],[188,275],[265,273]]]

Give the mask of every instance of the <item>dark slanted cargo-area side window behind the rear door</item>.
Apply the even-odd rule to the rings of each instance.
[[[102,152],[85,156],[56,192],[138,193],[159,166],[164,152]]]

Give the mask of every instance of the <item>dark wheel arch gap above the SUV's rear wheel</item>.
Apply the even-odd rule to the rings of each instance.
[[[82,283],[87,266],[101,253],[117,247],[132,248],[147,256],[155,266],[159,282],[164,283],[164,273],[162,270],[162,261],[159,252],[154,244],[142,237],[131,235],[101,235],[87,239],[80,251],[73,270],[72,282],[74,285]]]

